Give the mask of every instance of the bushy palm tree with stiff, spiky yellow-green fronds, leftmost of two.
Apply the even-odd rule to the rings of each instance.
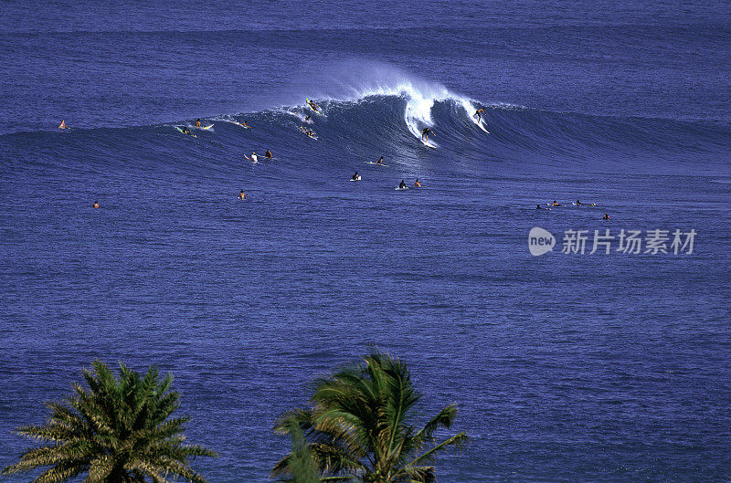
[[[161,381],[150,367],[141,379],[120,363],[117,379],[104,363],[92,365],[94,373],[83,370],[89,391],[76,384],[72,397],[48,403],[46,425],[16,430],[48,444],[29,449],[2,474],[49,467],[33,483],[59,483],[87,472],[86,483],[167,483],[168,477],[206,483],[188,458],[216,454],[183,444],[187,417],[169,419],[180,405],[180,394],[170,391],[173,377]]]

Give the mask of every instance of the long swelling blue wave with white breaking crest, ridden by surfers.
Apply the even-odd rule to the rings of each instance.
[[[327,160],[325,165],[344,156],[372,160],[384,155],[405,166],[433,158],[450,164],[459,158],[470,160],[471,169],[484,169],[491,161],[493,169],[509,165],[517,171],[561,168],[569,163],[589,171],[662,168],[664,173],[687,163],[700,172],[715,171],[719,163],[724,165],[731,146],[731,130],[723,123],[620,119],[484,103],[439,84],[408,79],[393,69],[379,74],[371,76],[367,84],[340,84],[332,89],[336,94],[316,100],[322,107],[320,113],[302,102],[300,106],[214,116],[204,121],[214,123],[214,128],[194,129],[195,139],[175,130],[175,125],[193,127],[188,120],[122,129],[16,133],[2,136],[2,140],[10,148],[16,143],[25,145],[28,139],[44,140],[75,146],[91,157],[98,156],[99,143],[111,153],[119,142],[129,142],[132,151],[139,152],[134,160],[141,162],[154,152],[175,153],[175,160],[186,159],[191,152],[209,152],[217,154],[212,163],[238,163],[242,153],[272,149],[295,164],[302,163],[303,154],[308,159]],[[485,111],[482,125],[475,117],[478,107]],[[310,121],[305,122],[307,116]],[[244,120],[254,129],[244,130],[236,124]],[[420,131],[426,127],[434,132],[431,142],[436,149],[420,142]],[[302,128],[315,136],[308,138]]]

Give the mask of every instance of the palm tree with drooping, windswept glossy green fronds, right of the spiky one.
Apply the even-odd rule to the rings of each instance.
[[[433,457],[468,441],[462,432],[437,443],[435,432],[452,425],[457,406],[446,406],[417,430],[410,420],[420,394],[406,364],[378,352],[364,359],[365,365],[346,367],[319,380],[313,408],[282,416],[275,432],[291,434],[291,420],[299,423],[321,481],[435,481],[434,467],[429,465]],[[296,457],[295,452],[283,457],[272,476],[293,476]]]

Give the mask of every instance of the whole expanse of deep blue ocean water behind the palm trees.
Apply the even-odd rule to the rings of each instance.
[[[0,466],[99,358],[174,373],[195,467],[264,481],[275,418],[376,345],[418,416],[460,405],[440,481],[728,479],[725,3],[11,1],[0,31]],[[589,254],[607,229],[671,253]]]

